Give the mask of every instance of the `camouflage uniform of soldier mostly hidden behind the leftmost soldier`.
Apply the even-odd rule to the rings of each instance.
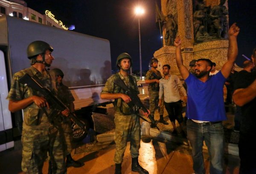
[[[57,84],[58,89],[58,98],[70,109],[70,104],[75,101],[75,98],[71,94],[70,90],[67,86],[64,84]],[[63,116],[63,122],[61,123],[61,126],[64,131],[64,137],[65,137],[65,143],[67,145],[67,154],[70,154],[72,152],[72,129],[71,129],[71,121],[70,118]]]

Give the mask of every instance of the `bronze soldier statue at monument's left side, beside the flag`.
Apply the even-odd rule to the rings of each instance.
[[[167,15],[167,20],[164,22],[166,24],[166,35],[164,37],[165,39],[165,45],[173,45],[174,39],[176,37],[177,33],[177,23],[173,18],[172,14]],[[169,39],[169,42],[168,42]]]

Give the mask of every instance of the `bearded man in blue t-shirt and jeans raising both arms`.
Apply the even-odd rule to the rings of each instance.
[[[223,87],[238,53],[236,37],[239,27],[236,23],[229,30],[229,48],[227,62],[216,75],[209,76],[212,61],[198,59],[195,75],[183,65],[181,40],[175,39],[176,62],[182,78],[187,84],[188,100],[186,107],[187,135],[192,146],[193,169],[196,174],[204,174],[204,157],[202,154],[205,141],[210,156],[210,174],[223,173],[224,131],[222,121],[226,120]]]

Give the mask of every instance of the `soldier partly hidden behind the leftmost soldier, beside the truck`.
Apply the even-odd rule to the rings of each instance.
[[[62,70],[58,68],[52,69],[52,71],[55,73],[56,76],[56,86],[58,90],[58,98],[70,109],[70,112],[75,112],[75,106],[73,104],[73,101],[75,101],[73,95],[71,94],[70,90],[68,89],[67,86],[65,86],[62,83],[62,79],[64,77],[64,73]],[[72,152],[72,129],[71,129],[71,120],[70,118],[63,117],[63,122],[61,124],[63,131],[64,131],[64,137],[65,137],[65,143],[67,145],[66,149],[66,166],[70,167],[81,167],[82,164],[78,161],[73,160],[71,157],[71,152]]]

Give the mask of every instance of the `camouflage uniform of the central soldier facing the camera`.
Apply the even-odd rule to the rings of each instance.
[[[128,75],[128,77],[123,77],[120,73],[112,75],[105,84],[105,87],[102,90],[103,93],[124,93],[124,91],[114,84],[113,82],[121,77],[125,84],[139,94],[137,87],[136,79]],[[140,118],[137,116],[139,114],[138,110],[133,111],[132,107],[128,106],[122,98],[115,99],[115,143],[116,143],[116,152],[114,161],[116,164],[122,163],[123,156],[126,149],[126,144],[128,138],[131,140],[131,157],[136,158],[139,156],[140,149]]]

